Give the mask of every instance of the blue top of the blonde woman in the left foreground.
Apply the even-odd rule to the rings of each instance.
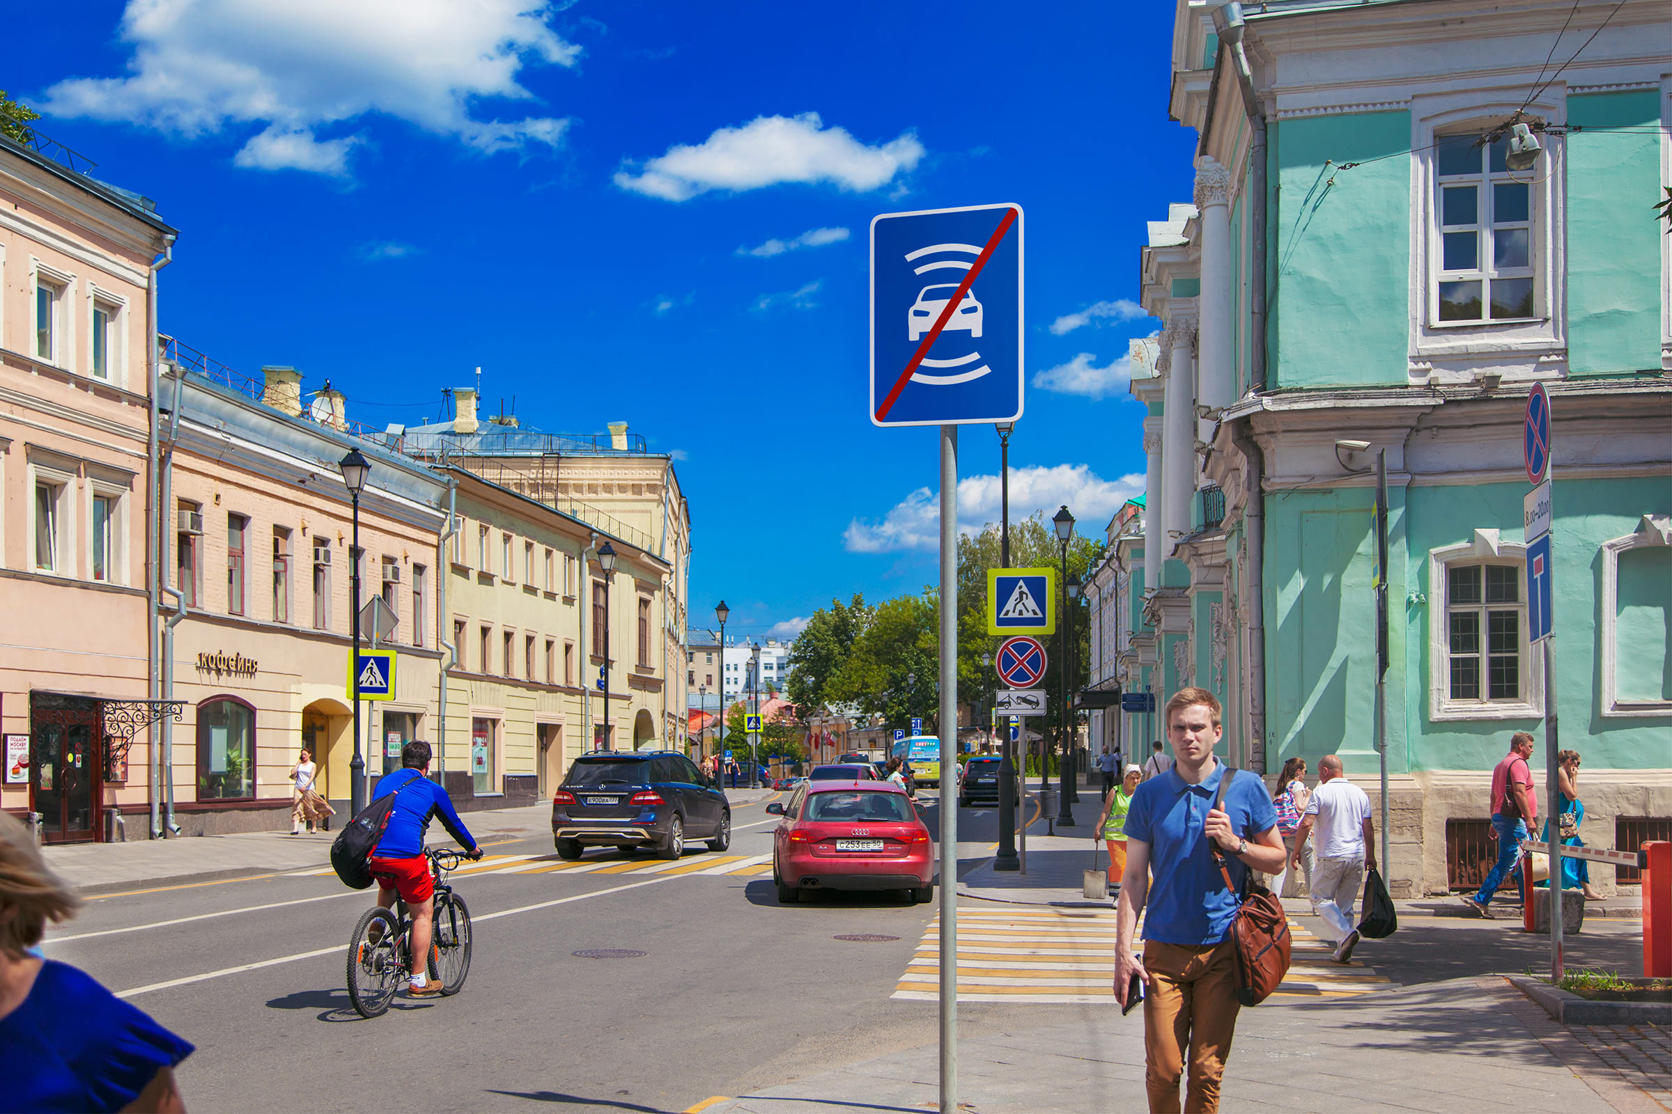
[[[192,1046],[92,975],[48,959],[28,997],[0,1017],[0,1111],[120,1111]]]

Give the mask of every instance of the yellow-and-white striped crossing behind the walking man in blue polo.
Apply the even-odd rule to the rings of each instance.
[[[1289,934],[1292,965],[1274,999],[1354,997],[1393,985],[1359,960],[1334,962],[1333,947],[1294,920]],[[1114,910],[960,909],[958,1000],[1114,1005]],[[940,917],[925,930],[893,997],[940,999]]]

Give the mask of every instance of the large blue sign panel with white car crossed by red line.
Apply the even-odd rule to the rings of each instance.
[[[1022,418],[1022,205],[871,219],[871,421]]]

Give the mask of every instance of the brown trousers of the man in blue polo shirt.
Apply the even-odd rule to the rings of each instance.
[[[1189,1051],[1185,1114],[1219,1111],[1219,1081],[1237,1025],[1237,972],[1231,942],[1212,947],[1144,942],[1154,979],[1144,999],[1144,1084],[1152,1114],[1179,1114],[1179,1079]]]

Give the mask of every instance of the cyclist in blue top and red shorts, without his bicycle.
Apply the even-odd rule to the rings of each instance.
[[[371,852],[371,875],[378,880],[380,905],[391,907],[396,894],[406,902],[413,924],[413,970],[408,989],[413,997],[428,997],[440,994],[443,987],[441,980],[430,979],[426,970],[435,929],[435,879],[423,853],[425,832],[430,830],[430,820],[440,817],[446,833],[458,840],[472,858],[482,858],[482,848],[465,830],[446,790],[430,780],[430,743],[413,740],[401,747],[401,768],[378,778],[371,800],[385,793],[395,793],[395,805],[390,808],[383,838]]]

